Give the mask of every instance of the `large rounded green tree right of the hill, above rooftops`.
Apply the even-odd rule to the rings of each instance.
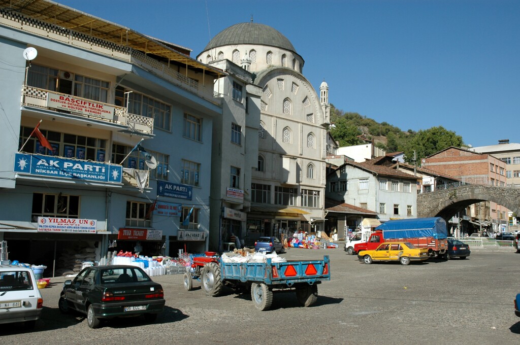
[[[419,130],[406,144],[403,151],[405,152],[405,160],[413,163],[414,150],[417,154],[417,160],[420,160],[450,146],[461,147],[462,144],[462,137],[458,136],[456,132],[438,126]]]

